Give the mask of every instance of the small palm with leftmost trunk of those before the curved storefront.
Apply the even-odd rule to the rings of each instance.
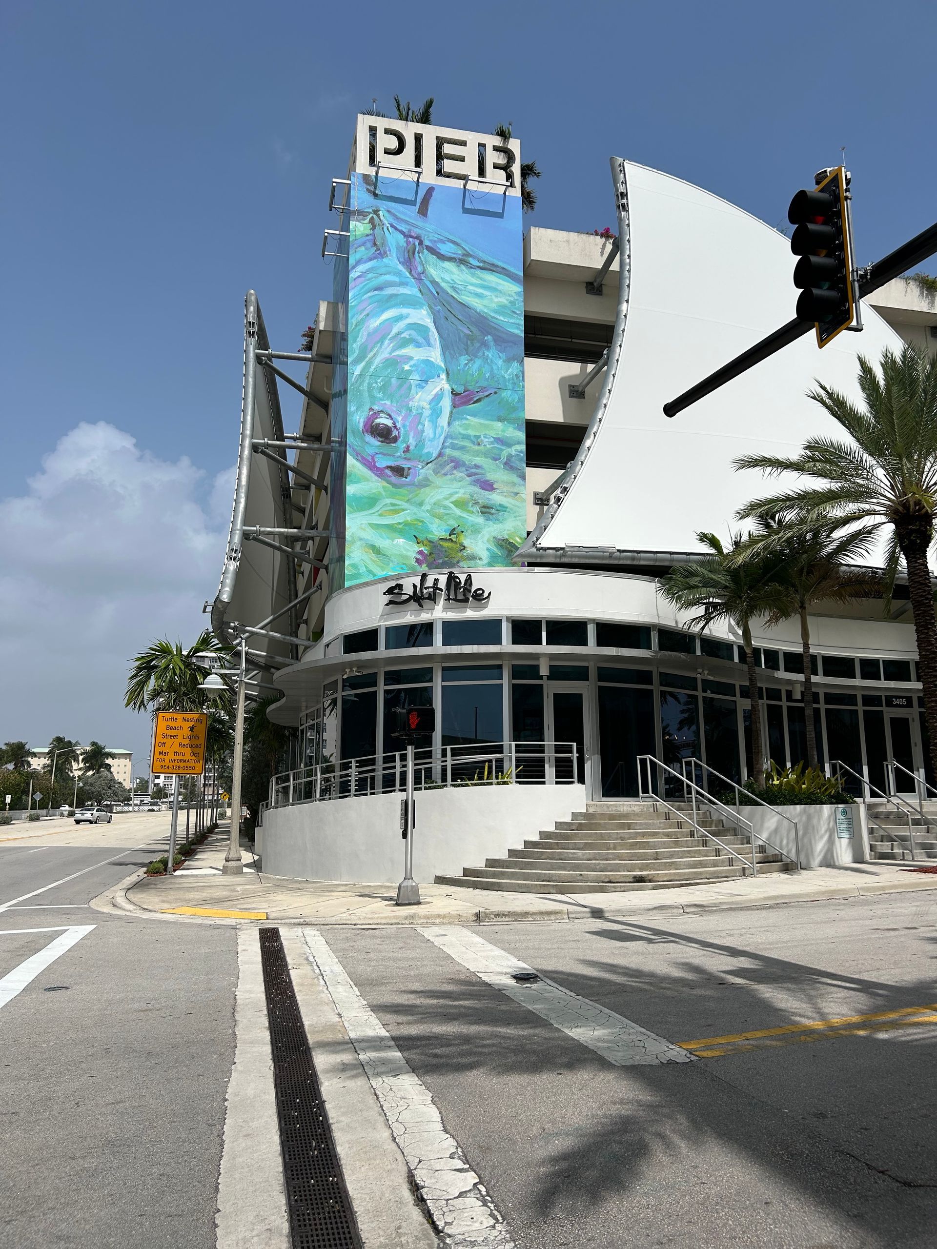
[[[696,563],[672,568],[662,581],[663,595],[682,611],[698,613],[688,622],[688,628],[707,628],[720,621],[731,621],[740,629],[752,703],[755,783],[763,786],[765,748],[751,622],[757,616],[771,616],[783,607],[786,591],[778,580],[778,560],[771,553],[752,556],[743,562],[732,560],[732,555],[748,541],[742,533],[732,536],[728,551],[715,533],[697,533],[696,537],[711,555]]]

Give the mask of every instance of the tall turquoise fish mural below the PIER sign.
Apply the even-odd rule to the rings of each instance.
[[[386,181],[352,175],[345,585],[526,536],[520,199]]]

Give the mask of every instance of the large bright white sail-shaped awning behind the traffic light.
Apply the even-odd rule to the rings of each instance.
[[[732,460],[845,436],[806,397],[815,378],[858,398],[857,355],[876,361],[903,346],[863,305],[862,333],[820,351],[811,332],[668,420],[667,400],[791,320],[795,257],[782,234],[697,186],[627,161],[612,170],[623,261],[617,368],[568,490],[518,552],[531,562],[568,558],[570,548],[695,551],[697,531],[727,535],[737,508],[766,490]]]

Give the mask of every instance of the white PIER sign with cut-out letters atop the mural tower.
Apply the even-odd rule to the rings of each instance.
[[[481,184],[501,194],[520,195],[521,145],[470,130],[446,130],[414,121],[394,121],[359,114],[355,172],[386,170],[424,182]],[[399,172],[395,174],[394,171]]]

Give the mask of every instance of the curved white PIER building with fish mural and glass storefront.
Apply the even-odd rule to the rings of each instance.
[[[668,398],[790,317],[787,240],[617,159],[617,236],[525,237],[518,169],[513,140],[359,117],[296,435],[271,401],[289,353],[251,347],[249,323],[212,620],[229,636],[236,605],[256,688],[282,694],[270,716],[296,731],[264,816],[275,874],[389,878],[401,708],[436,709],[416,742],[435,812],[422,879],[506,854],[576,802],[637,794],[642,756],[745,779],[741,638],[688,629],[658,578],[760,491],[736,456],[831,432],[815,380],[857,395],[860,351],[930,343],[925,306],[886,289],[862,335],[823,352],[803,337],[670,421]],[[811,617],[810,709],[796,623],[756,627],[772,759],[805,758],[811,713],[826,762],[880,787],[893,763],[925,774],[906,608]]]

